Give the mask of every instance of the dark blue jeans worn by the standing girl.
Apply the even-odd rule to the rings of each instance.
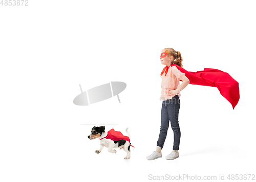
[[[163,148],[163,144],[167,135],[167,130],[172,126],[174,132],[174,146],[173,150],[179,150],[180,146],[180,126],[179,126],[179,110],[180,99],[178,95],[175,95],[172,99],[164,100],[161,111],[161,127],[160,134],[157,141],[157,146]]]

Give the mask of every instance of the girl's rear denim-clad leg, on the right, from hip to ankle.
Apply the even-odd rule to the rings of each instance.
[[[179,109],[180,109],[180,99],[176,95],[172,99],[172,103],[167,105],[168,117],[170,119],[170,125],[174,132],[174,145],[173,150],[179,150],[180,146],[180,126],[179,126]]]

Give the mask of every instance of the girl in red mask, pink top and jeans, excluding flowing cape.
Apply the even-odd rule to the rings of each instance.
[[[180,72],[176,66],[170,66],[177,64],[183,68],[182,57],[179,51],[173,48],[164,48],[160,56],[161,63],[166,65],[161,73],[162,76],[162,91],[160,100],[162,103],[161,111],[161,127],[160,134],[157,141],[157,149],[151,155],[148,155],[146,159],[154,160],[162,157],[161,150],[167,135],[167,130],[170,125],[174,132],[174,145],[173,151],[165,158],[173,160],[179,157],[179,145],[180,145],[180,127],[179,127],[179,109],[180,109],[180,91],[182,91],[188,84],[189,80],[185,76],[185,73]],[[180,80],[182,84],[180,85]]]

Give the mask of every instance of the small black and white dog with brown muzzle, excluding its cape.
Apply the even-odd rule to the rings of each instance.
[[[127,131],[128,128],[125,129],[125,132],[127,133],[127,136],[130,137],[130,133]],[[111,139],[106,139],[105,137],[108,135],[107,132],[105,132],[105,126],[94,126],[92,128],[91,134],[88,136],[90,140],[99,138],[100,139],[100,148],[99,150],[96,150],[96,153],[100,153],[103,147],[107,147],[108,151],[111,153],[116,153],[116,150],[113,150],[113,148],[120,148],[127,152],[124,159],[130,159],[131,157],[131,143],[126,140],[116,140],[113,141]]]

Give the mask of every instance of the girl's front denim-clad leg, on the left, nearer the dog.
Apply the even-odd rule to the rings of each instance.
[[[161,111],[161,127],[160,127],[160,134],[157,141],[157,146],[163,148],[164,141],[167,136],[167,131],[169,127],[169,117],[168,117],[168,111],[167,106],[170,100],[163,101],[162,103],[162,111]]]

